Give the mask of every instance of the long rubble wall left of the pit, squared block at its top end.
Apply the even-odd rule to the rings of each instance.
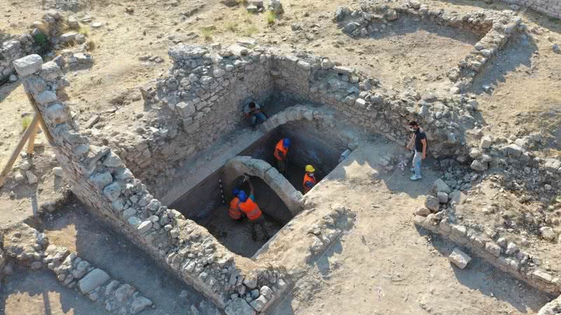
[[[46,120],[74,193],[93,214],[219,307],[252,314],[288,288],[281,270],[228,251],[205,228],[163,207],[110,148],[94,146],[77,132],[62,101],[68,83],[55,62],[43,64],[39,55],[29,55],[14,67]]]

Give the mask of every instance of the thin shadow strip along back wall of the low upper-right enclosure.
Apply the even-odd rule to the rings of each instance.
[[[416,22],[410,17],[398,18],[398,20],[391,22],[385,29],[381,28],[382,23],[374,23],[379,31],[370,34],[366,38],[380,39],[389,36],[402,36],[406,34],[413,34],[417,31],[427,31],[429,34],[435,34],[440,37],[450,38],[454,41],[466,43],[468,45],[475,45],[483,36],[474,34],[471,31],[464,29],[438,25],[432,22]],[[348,34],[347,34],[348,35]]]

